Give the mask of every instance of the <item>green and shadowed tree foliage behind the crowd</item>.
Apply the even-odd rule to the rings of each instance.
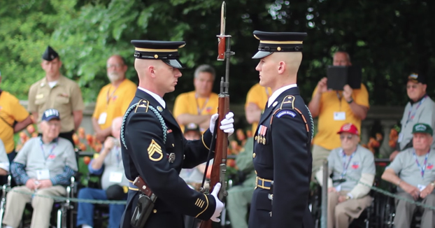
[[[176,95],[193,89],[193,71],[217,62],[220,6],[217,0],[5,0],[0,8],[0,70],[3,90],[27,99],[31,83],[44,76],[40,67],[46,45],[62,58],[62,73],[78,81],[86,101],[94,101],[108,83],[105,64],[110,55],[127,59],[127,77],[137,82],[132,39],[187,42],[180,50],[183,70]],[[404,83],[411,71],[434,74],[434,1],[227,1],[227,34],[231,34],[231,102],[241,104],[258,82],[257,60],[251,59],[258,41],[255,29],[305,31],[304,61],[298,84],[306,99],[325,76],[331,55],[350,52],[363,66],[363,81],[371,104],[404,105]],[[219,77],[218,77],[219,78]],[[216,80],[218,82],[219,80]],[[434,79],[429,79],[429,94]],[[213,90],[218,92],[219,83]]]

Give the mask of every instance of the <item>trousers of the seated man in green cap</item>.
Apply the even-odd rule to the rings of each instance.
[[[399,197],[407,198],[413,200],[411,194],[406,192],[400,192],[397,194]],[[396,199],[396,215],[394,216],[394,227],[396,228],[409,228],[411,227],[411,222],[415,211],[418,209],[417,205],[408,203],[404,200]],[[422,204],[429,204],[430,206],[435,206],[435,194],[429,194],[425,199],[422,200]],[[420,207],[419,207],[420,208]],[[435,211],[429,208],[420,208],[423,211],[422,222],[420,227],[435,227]]]

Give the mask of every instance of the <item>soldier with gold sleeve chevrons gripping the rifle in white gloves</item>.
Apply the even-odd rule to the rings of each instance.
[[[130,181],[121,227],[141,226],[133,225],[131,220],[136,220],[136,212],[150,209],[141,208],[144,204],[141,190],[148,189],[153,192],[150,199],[157,199],[145,222],[146,228],[184,227],[183,214],[217,222],[223,208],[216,197],[220,183],[215,185],[210,195],[202,194],[192,190],[179,176],[182,168],[192,169],[206,162],[217,114],[212,116],[210,129],[199,140],[187,141],[162,99],[164,94],[175,90],[181,76],[183,65],[178,60],[178,48],[182,48],[185,42],[131,43],[135,46],[134,68],[139,86],[124,114],[121,128],[122,162]],[[233,116],[233,113],[228,113],[220,123],[220,129],[228,134],[234,132]],[[145,182],[140,188],[133,184],[138,176]]]

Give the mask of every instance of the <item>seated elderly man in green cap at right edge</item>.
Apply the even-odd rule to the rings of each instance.
[[[397,185],[399,197],[422,201],[430,206],[435,206],[435,150],[431,149],[433,132],[429,124],[415,124],[413,147],[399,152],[382,175],[384,180]],[[435,227],[435,211],[420,209],[423,211],[421,227]],[[394,226],[411,227],[416,210],[415,204],[396,199]]]

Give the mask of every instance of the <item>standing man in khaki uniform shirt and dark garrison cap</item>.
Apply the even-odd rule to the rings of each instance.
[[[73,143],[73,132],[78,129],[83,118],[82,92],[73,80],[61,75],[59,55],[50,46],[45,50],[41,63],[45,78],[31,85],[29,90],[29,112],[41,122],[43,111],[55,108],[62,116],[59,136]],[[40,131],[41,132],[41,131]]]

